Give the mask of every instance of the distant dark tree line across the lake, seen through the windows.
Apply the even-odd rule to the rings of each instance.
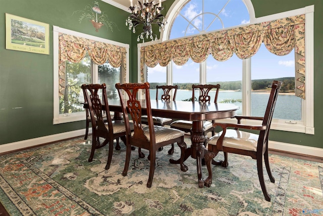
[[[251,89],[256,90],[266,90],[271,88],[273,80],[282,81],[281,92],[294,92],[295,91],[295,77],[282,77],[276,79],[255,79],[251,80]],[[165,82],[150,82],[150,89],[155,89],[156,85],[165,85]],[[180,90],[191,90],[192,82],[184,82],[184,83],[174,83],[174,85],[178,85],[178,89]],[[208,84],[220,84],[221,90],[233,90],[240,91],[242,89],[241,81],[222,81],[222,82],[209,82]]]

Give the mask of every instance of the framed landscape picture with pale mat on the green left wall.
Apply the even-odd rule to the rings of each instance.
[[[6,49],[49,55],[49,24],[6,13]]]

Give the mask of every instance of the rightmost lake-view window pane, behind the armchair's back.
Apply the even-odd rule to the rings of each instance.
[[[251,115],[263,116],[268,101],[266,89],[277,77],[283,78],[283,85],[277,99],[274,119],[301,121],[302,99],[295,97],[295,53],[286,56],[268,53],[262,44],[251,59]],[[263,67],[266,65],[266,67]],[[288,112],[286,112],[288,110]]]

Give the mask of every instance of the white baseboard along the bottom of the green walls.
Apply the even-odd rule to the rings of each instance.
[[[90,133],[92,133],[91,128],[89,128],[89,134]],[[84,135],[85,135],[85,129],[80,129],[78,131],[66,132],[66,133],[39,137],[35,139],[30,139],[30,140],[23,140],[23,141],[14,142],[14,143],[3,144],[3,145],[0,145],[0,153],[15,151],[22,148],[37,146],[43,143],[50,143],[50,142],[55,142],[59,140],[69,139],[71,137],[78,137],[78,136],[84,136]],[[295,144],[289,144],[289,143],[280,143],[275,141],[269,141],[268,148],[273,150],[296,153],[296,154],[323,157],[323,148],[301,146],[301,145],[295,145]]]

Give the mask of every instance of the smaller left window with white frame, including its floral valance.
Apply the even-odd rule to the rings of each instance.
[[[105,83],[109,99],[117,98],[115,83],[129,81],[129,45],[57,26],[53,38],[53,123],[85,120],[81,85]]]

